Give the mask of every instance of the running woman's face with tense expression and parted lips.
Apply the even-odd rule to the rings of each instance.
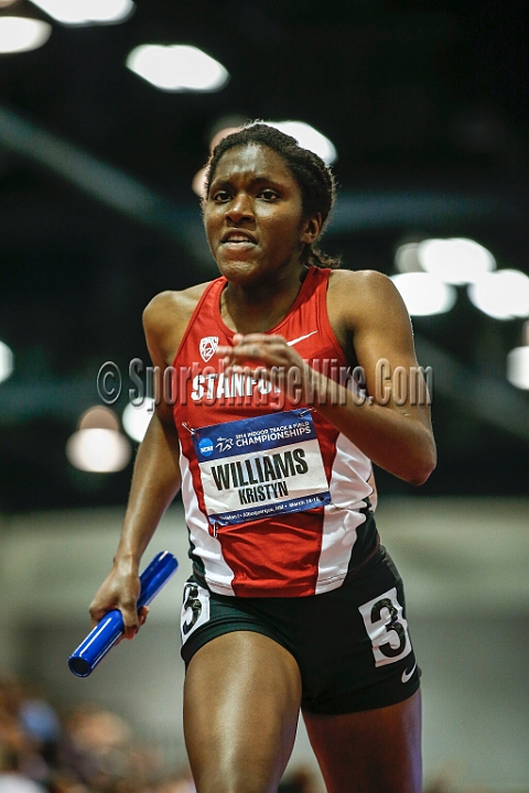
[[[300,262],[313,224],[302,221],[301,191],[268,146],[242,145],[220,157],[206,200],[207,241],[223,275],[244,283]]]

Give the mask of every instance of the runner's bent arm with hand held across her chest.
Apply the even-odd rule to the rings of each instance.
[[[236,335],[234,347],[217,351],[231,366],[258,363],[261,377],[283,389],[289,370],[296,368],[301,385],[296,393],[288,394],[290,399],[299,397],[300,388],[304,402],[311,402],[313,395],[313,404],[322,415],[376,465],[412,485],[422,485],[436,459],[429,405],[412,400],[410,388],[403,404],[401,399],[397,404],[391,382],[377,383],[381,360],[388,362],[389,372],[403,367],[410,378],[418,371],[408,312],[385,275],[365,272],[343,276],[339,289],[330,286],[330,319],[333,327],[339,328],[338,336],[343,333],[353,337],[373,401],[361,402],[348,389],[316,372],[280,336]]]

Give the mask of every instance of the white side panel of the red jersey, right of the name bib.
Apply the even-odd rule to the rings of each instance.
[[[356,530],[366,520],[360,512],[364,499],[373,491],[367,484],[370,472],[368,457],[341,433],[330,485],[331,504],[324,508],[316,595],[336,589],[347,575]]]

